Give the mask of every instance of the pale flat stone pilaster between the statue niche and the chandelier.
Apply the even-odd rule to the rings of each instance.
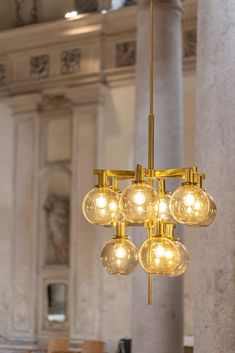
[[[100,339],[99,239],[97,228],[82,212],[83,198],[95,182],[100,86],[75,88],[67,94],[73,103],[70,340],[78,343]]]

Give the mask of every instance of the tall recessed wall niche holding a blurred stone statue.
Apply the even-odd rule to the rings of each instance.
[[[50,167],[40,180],[41,266],[69,265],[71,173]]]

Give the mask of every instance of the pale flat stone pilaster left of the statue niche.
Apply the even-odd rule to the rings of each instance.
[[[40,95],[6,99],[14,118],[14,208],[8,339],[33,342],[37,308],[37,167]]]

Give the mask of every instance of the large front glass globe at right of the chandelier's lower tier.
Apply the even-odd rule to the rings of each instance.
[[[139,261],[147,273],[170,276],[180,265],[180,255],[174,241],[152,237],[142,244]]]

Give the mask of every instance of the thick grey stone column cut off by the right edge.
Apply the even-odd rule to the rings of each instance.
[[[234,353],[235,3],[198,6],[196,156],[218,214],[197,240],[195,353]]]

